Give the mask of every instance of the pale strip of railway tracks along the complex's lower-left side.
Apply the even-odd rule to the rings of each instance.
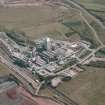
[[[4,49],[0,48],[0,56],[1,56],[1,63],[8,66],[10,73],[14,75],[18,80],[21,81],[21,83],[31,92],[34,94],[37,94],[37,89],[39,90],[40,83],[37,81],[34,81],[31,77],[29,77],[27,74],[23,73],[21,68],[14,65],[12,63],[12,59],[10,58],[10,55],[5,52]]]

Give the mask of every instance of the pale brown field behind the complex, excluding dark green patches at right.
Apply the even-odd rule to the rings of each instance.
[[[65,33],[70,31],[61,24],[63,18],[70,19],[75,14],[72,10],[55,8],[50,6],[2,8],[0,7],[0,26],[9,29],[20,29],[30,37],[40,37],[52,34],[52,37],[64,38]]]

